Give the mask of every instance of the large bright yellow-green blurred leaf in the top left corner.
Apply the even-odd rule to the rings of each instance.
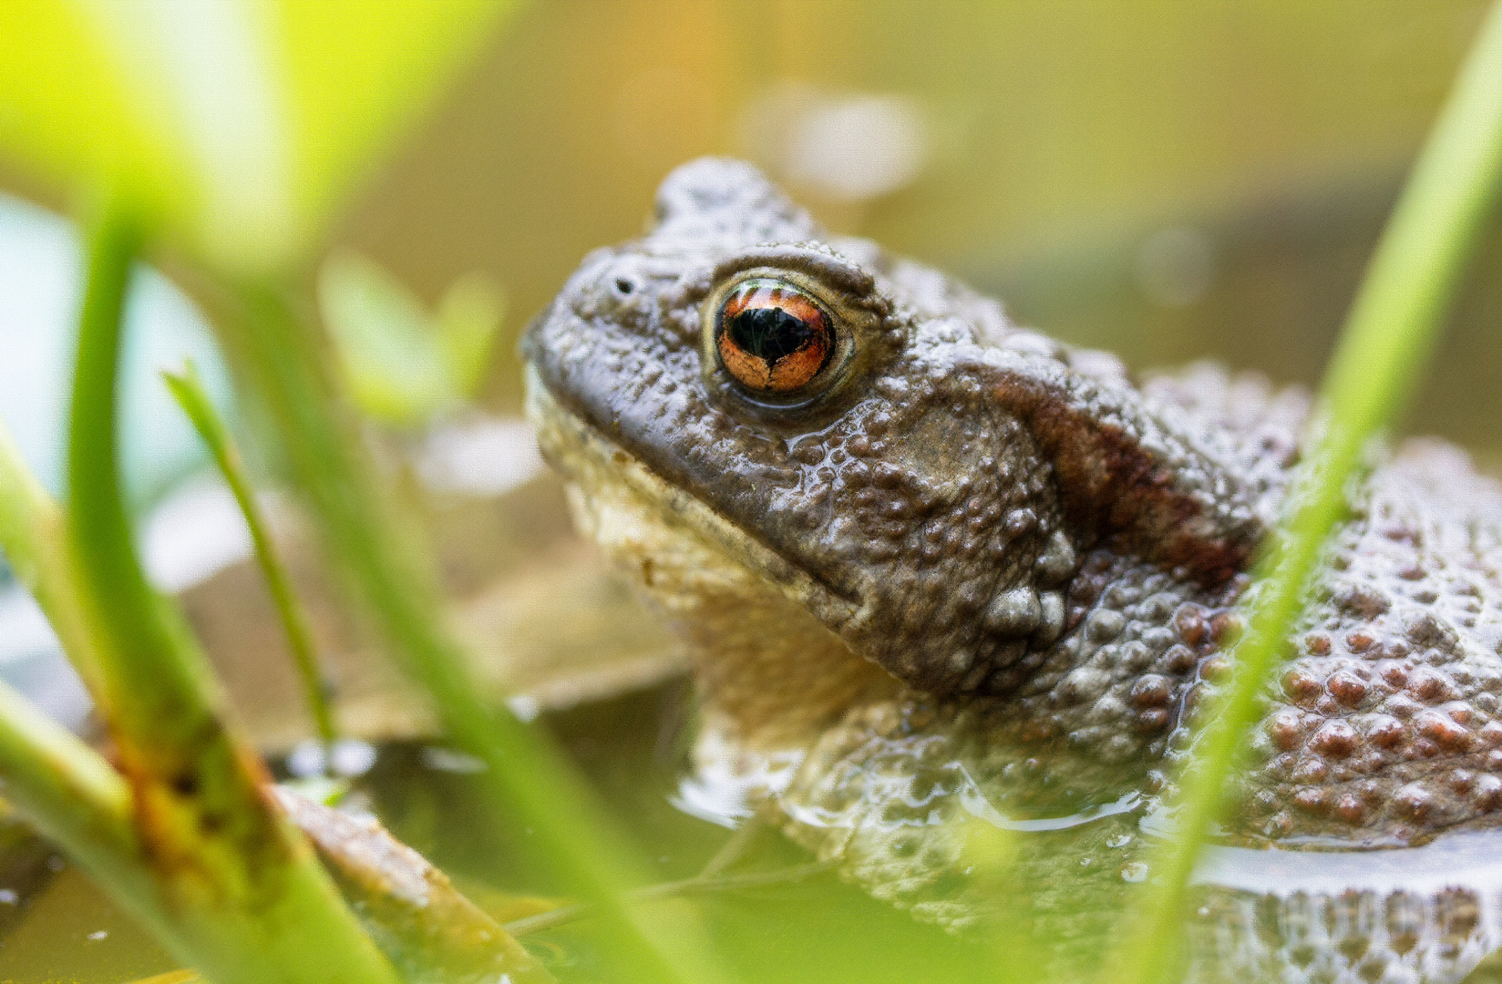
[[[306,254],[509,0],[8,0],[0,146],[215,264]]]

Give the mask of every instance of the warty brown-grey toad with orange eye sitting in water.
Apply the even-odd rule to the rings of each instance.
[[[1136,379],[727,159],[674,171],[524,353],[577,524],[692,652],[695,789],[961,928],[985,903],[957,819],[1142,840],[1233,672],[1310,406],[1214,365]],[[1227,841],[1496,825],[1499,650],[1502,490],[1437,442],[1382,451]]]

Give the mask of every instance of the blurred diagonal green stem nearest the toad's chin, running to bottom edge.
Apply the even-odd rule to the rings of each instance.
[[[569,891],[599,907],[613,933],[617,979],[725,979],[691,912],[665,918],[623,901],[625,888],[653,880],[632,846],[551,744],[479,697],[410,523],[398,520],[383,496],[357,427],[335,410],[332,370],[314,327],[266,287],[246,287],[239,305],[231,359],[269,407],[282,451],[323,521],[330,556],[404,669],[431,694],[454,741],[485,762],[497,805],[517,807],[536,832],[541,859]]]

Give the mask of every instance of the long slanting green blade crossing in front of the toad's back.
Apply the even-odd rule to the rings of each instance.
[[[1108,964],[1108,979],[1154,984],[1178,963],[1196,858],[1227,805],[1238,750],[1256,726],[1259,694],[1304,608],[1325,538],[1344,518],[1347,476],[1416,385],[1499,186],[1502,3],[1481,27],[1352,306],[1322,389],[1323,434],[1259,568],[1266,580],[1236,646],[1236,678],[1206,715],[1184,778],[1178,838],[1151,865],[1157,883],[1146,915],[1123,933],[1131,942]]]

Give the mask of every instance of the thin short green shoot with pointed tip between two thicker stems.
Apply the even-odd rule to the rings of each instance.
[[[312,628],[308,623],[308,614],[302,602],[297,601],[297,595],[291,589],[291,578],[287,575],[287,568],[282,566],[281,557],[276,556],[276,545],[272,544],[270,533],[267,532],[266,517],[261,514],[261,508],[255,502],[255,493],[245,475],[240,451],[230,437],[230,430],[224,425],[218,410],[213,409],[213,403],[209,400],[209,394],[204,392],[203,383],[198,382],[198,374],[194,373],[192,365],[188,365],[182,373],[162,373],[162,380],[173,392],[173,398],[177,400],[177,406],[192,421],[198,436],[203,437],[203,443],[209,445],[209,451],[213,454],[224,481],[234,494],[234,502],[240,506],[240,515],[245,517],[245,524],[251,530],[251,542],[255,544],[255,559],[261,565],[261,575],[266,578],[266,587],[276,604],[282,631],[287,632],[287,646],[291,649],[291,657],[297,664],[297,675],[302,678],[308,712],[318,729],[318,739],[324,745],[329,745],[336,738],[336,733],[333,712],[329,708],[327,687],[324,685],[323,670],[318,666],[318,652],[312,643]]]

